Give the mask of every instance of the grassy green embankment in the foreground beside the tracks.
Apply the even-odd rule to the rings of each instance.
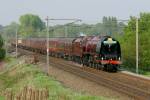
[[[48,77],[35,65],[17,66],[18,61],[14,58],[6,59],[8,64],[6,64],[5,70],[0,73],[0,92],[11,88],[13,93],[18,93],[24,86],[31,86],[38,89],[48,88],[49,100],[108,100],[105,97],[74,92],[63,87],[54,78]],[[0,96],[0,100],[4,100],[4,97]]]

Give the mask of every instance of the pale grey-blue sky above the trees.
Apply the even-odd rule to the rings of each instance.
[[[49,16],[94,23],[103,16],[127,20],[140,12],[150,12],[150,0],[0,0],[0,25],[19,22],[19,17],[27,13],[36,14],[43,21]]]

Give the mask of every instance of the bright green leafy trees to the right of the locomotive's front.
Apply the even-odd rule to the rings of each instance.
[[[141,13],[139,22],[139,68],[150,71],[150,13]],[[124,35],[120,39],[124,65],[135,69],[135,36],[136,17],[130,17],[128,25],[125,27]]]

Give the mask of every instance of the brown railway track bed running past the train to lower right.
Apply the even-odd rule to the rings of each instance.
[[[40,55],[40,60],[46,61],[45,58],[44,55]],[[131,96],[135,100],[150,100],[149,79],[122,72],[108,73],[89,67],[80,67],[72,62],[52,57],[50,57],[50,65]]]

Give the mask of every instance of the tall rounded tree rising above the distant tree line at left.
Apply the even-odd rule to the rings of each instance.
[[[36,35],[36,32],[42,31],[45,28],[45,23],[39,16],[33,14],[25,14],[19,18],[20,32],[23,35]]]

